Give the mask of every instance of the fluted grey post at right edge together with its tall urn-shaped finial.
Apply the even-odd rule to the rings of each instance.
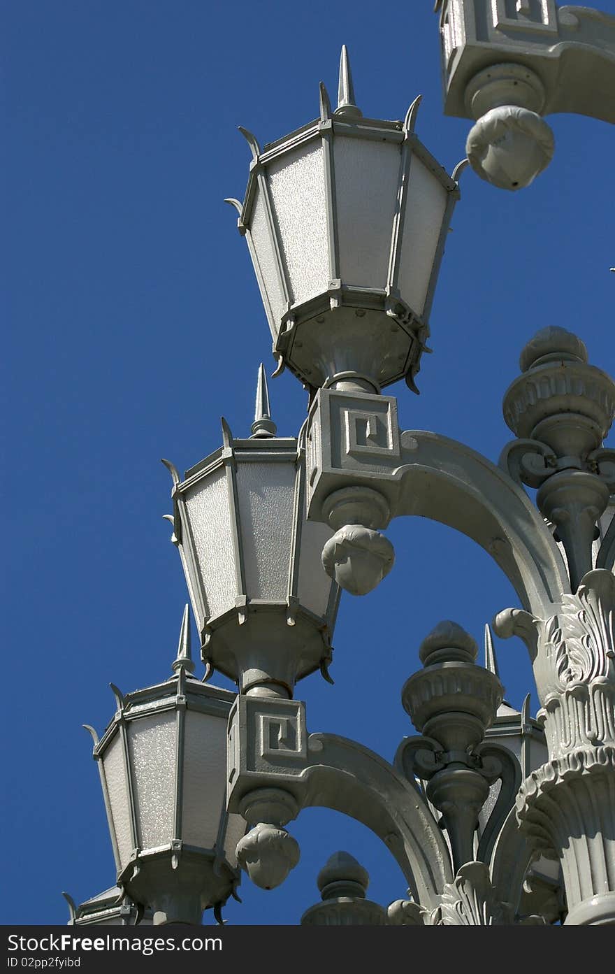
[[[561,860],[566,922],[615,923],[615,579],[593,560],[614,487],[615,453],[601,444],[615,383],[563,328],[539,331],[520,365],[504,397],[520,438],[500,464],[539,488],[536,503],[562,543],[573,594],[540,617],[507,610],[496,618],[499,635],[527,645],[549,747],[550,760],[522,785],[517,814],[537,851]]]

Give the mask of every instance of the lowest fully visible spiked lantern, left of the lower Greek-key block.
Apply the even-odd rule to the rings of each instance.
[[[176,676],[126,697],[101,737],[98,762],[118,883],[154,923],[200,922],[234,892],[245,832],[226,811],[227,721],[235,694],[195,679],[188,607]],[[188,917],[188,919],[186,919]]]

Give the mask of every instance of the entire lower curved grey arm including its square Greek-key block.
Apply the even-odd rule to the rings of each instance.
[[[433,909],[452,880],[447,844],[422,795],[356,741],[308,734],[301,700],[236,697],[228,774],[229,810],[250,824],[284,825],[311,805],[362,822],[390,849],[424,907]]]

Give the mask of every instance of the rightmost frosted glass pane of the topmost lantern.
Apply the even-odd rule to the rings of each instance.
[[[399,291],[422,315],[448,193],[436,176],[413,156],[399,261]]]

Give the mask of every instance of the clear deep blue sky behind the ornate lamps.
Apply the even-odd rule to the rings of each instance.
[[[613,0],[600,8],[615,14]],[[469,123],[442,112],[432,4],[380,0],[23,0],[2,10],[5,356],[5,821],[3,923],[63,923],[115,881],[98,775],[83,723],[102,731],[125,692],[170,675],[186,601],[162,515],[168,457],[184,469],[252,420],[271,340],[228,196],[250,154],[317,115],[348,46],[365,115],[403,119],[452,171]],[[525,342],[559,324],[615,372],[612,128],[554,116],[551,167],[508,194],[462,177],[432,318],[420,396],[404,384],[405,429],[432,430],[496,461],[511,438],[501,400]],[[296,433],[306,394],[270,383],[278,431]],[[488,555],[412,518],[387,532],[397,561],[371,595],[343,601],[330,687],[299,686],[308,728],[353,737],[392,759],[412,732],[401,703],[421,639],[452,618],[481,639],[516,605]],[[530,669],[498,644],[520,707]],[[214,679],[219,685],[222,680]],[[536,708],[533,697],[533,708]],[[296,923],[338,848],[386,905],[406,884],[367,830],[308,810],[289,880],[244,880],[232,923]],[[210,922],[210,915],[205,915]]]

